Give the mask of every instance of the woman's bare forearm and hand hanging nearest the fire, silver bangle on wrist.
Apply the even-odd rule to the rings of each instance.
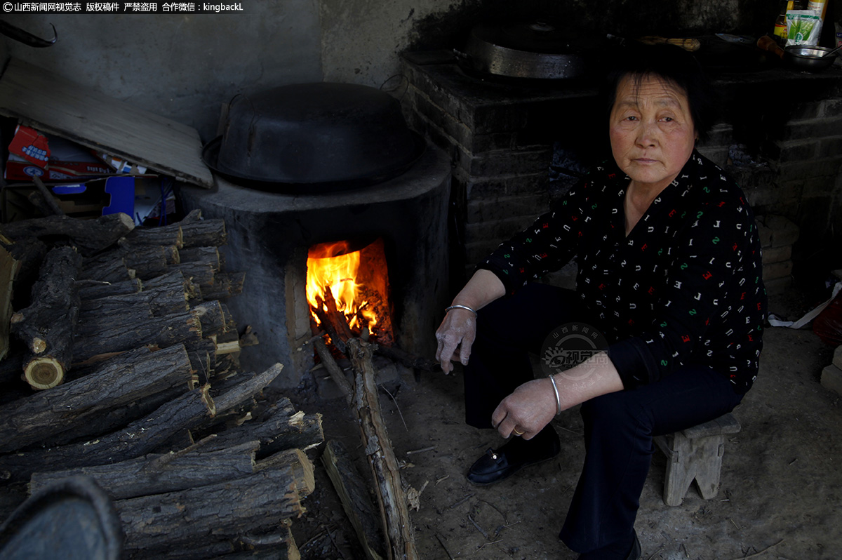
[[[452,305],[470,307],[474,311],[479,311],[505,294],[506,289],[497,275],[490,270],[480,269],[456,294]],[[435,359],[440,362],[442,371],[450,373],[453,370],[453,364],[450,363],[452,360],[459,360],[462,365],[467,365],[471,355],[471,345],[476,337],[477,317],[474,313],[460,307],[447,312],[438,330],[435,331],[438,344]],[[456,349],[459,349],[458,356]]]

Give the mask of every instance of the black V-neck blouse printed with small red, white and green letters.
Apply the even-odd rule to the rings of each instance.
[[[577,291],[610,342],[626,389],[684,364],[708,365],[749,391],[766,293],[754,216],[737,184],[698,152],[626,237],[631,179],[599,167],[478,268],[509,293],[576,256]]]

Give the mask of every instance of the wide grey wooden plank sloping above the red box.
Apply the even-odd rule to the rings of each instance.
[[[189,183],[214,184],[195,128],[24,61],[9,61],[0,78],[0,114]]]

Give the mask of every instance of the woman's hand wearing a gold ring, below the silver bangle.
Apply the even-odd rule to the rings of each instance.
[[[491,415],[491,424],[504,438],[523,432],[531,440],[556,415],[556,397],[549,379],[527,381],[505,397]],[[519,435],[519,434],[514,434]]]

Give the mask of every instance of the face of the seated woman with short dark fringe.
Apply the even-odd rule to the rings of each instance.
[[[610,115],[611,152],[632,182],[664,189],[695,146],[687,95],[658,77],[622,78]]]

